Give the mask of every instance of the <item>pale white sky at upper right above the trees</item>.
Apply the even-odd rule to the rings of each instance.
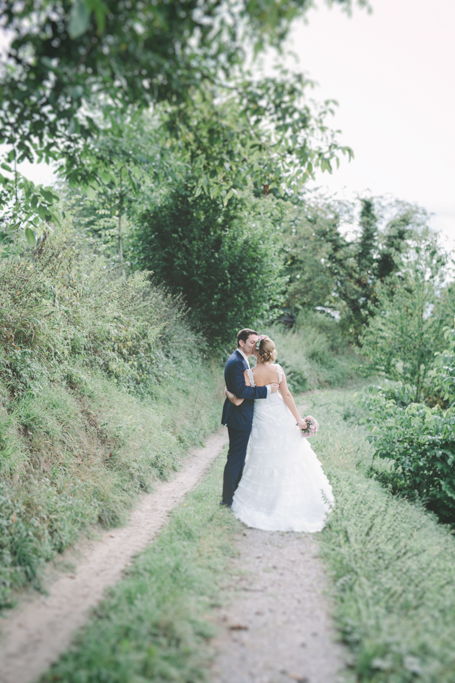
[[[319,83],[315,99],[338,100],[332,122],[355,153],[316,184],[417,202],[455,239],[455,2],[371,4],[349,18],[320,2],[288,42]]]

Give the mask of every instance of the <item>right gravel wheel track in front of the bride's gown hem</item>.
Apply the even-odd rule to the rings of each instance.
[[[246,529],[235,565],[211,682],[337,683],[343,651],[334,641],[317,536]]]

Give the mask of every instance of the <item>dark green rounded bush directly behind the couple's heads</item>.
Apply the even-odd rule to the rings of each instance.
[[[224,206],[203,193],[195,197],[182,183],[151,197],[138,217],[133,251],[140,266],[184,296],[213,346],[281,303],[279,220],[273,197],[245,193]]]

